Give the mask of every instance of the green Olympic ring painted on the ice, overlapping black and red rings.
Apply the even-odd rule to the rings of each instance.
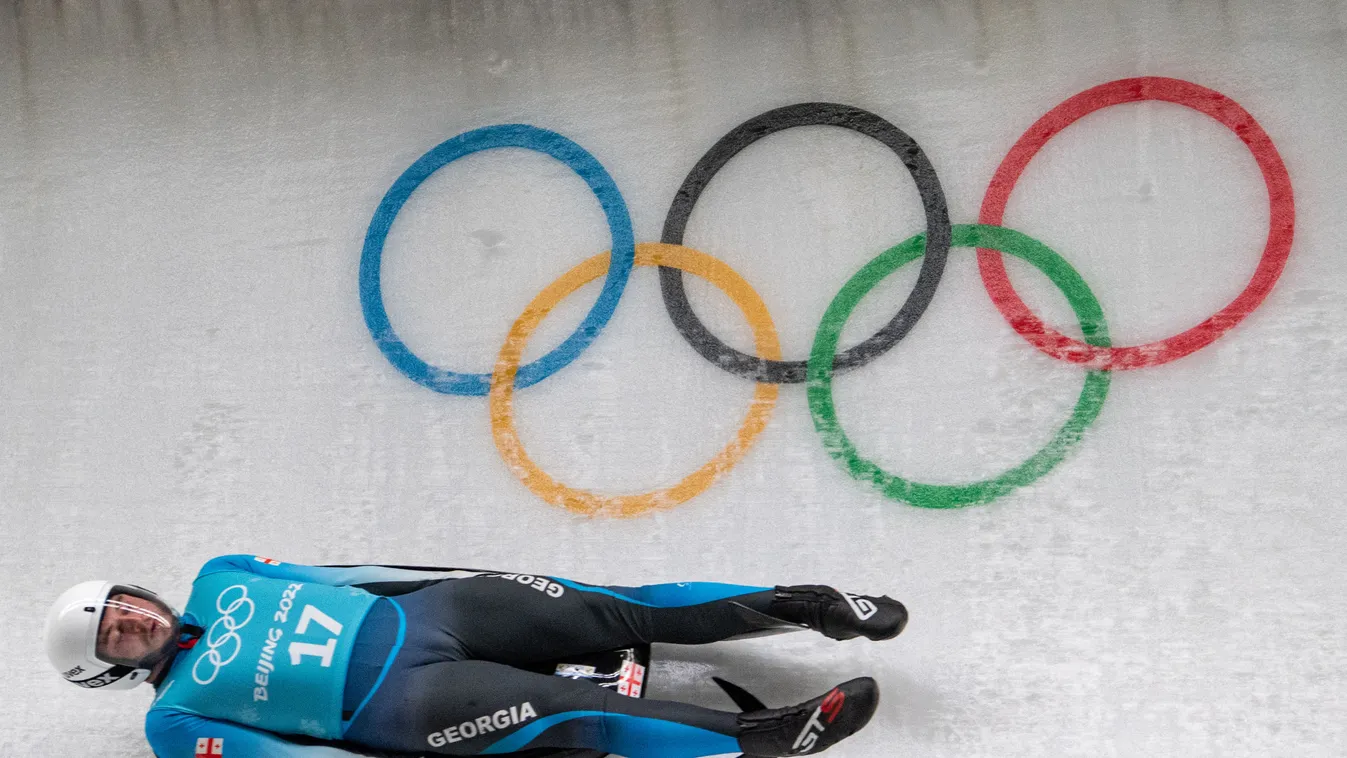
[[[1033,264],[1067,296],[1071,310],[1080,320],[1086,342],[1099,347],[1110,347],[1109,327],[1105,324],[1099,300],[1095,299],[1094,292],[1080,279],[1076,269],[1071,268],[1065,259],[1043,242],[1004,226],[959,223],[954,226],[951,244],[959,248],[1001,250]],[[846,326],[857,303],[884,277],[921,257],[924,248],[925,236],[917,234],[880,253],[847,280],[842,291],[828,304],[810,351],[807,369],[810,415],[814,417],[814,428],[823,438],[823,447],[828,455],[841,463],[853,478],[869,482],[885,497],[919,508],[981,505],[1033,482],[1060,463],[1067,451],[1080,440],[1086,427],[1099,416],[1099,409],[1109,394],[1110,377],[1107,370],[1090,370],[1071,417],[1057,429],[1052,440],[1024,463],[991,479],[970,485],[923,485],[889,474],[873,460],[862,458],[838,423],[836,408],[832,404],[832,355],[836,353],[842,327]]]

